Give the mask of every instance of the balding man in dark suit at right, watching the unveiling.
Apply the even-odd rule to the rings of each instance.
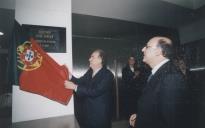
[[[182,72],[171,62],[172,41],[153,37],[142,49],[143,62],[152,68],[151,77],[138,102],[138,113],[130,117],[137,128],[187,128],[188,87]]]

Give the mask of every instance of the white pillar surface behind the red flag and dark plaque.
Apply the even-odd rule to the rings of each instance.
[[[20,24],[66,28],[66,53],[49,53],[72,69],[71,0],[16,0],[15,19]],[[73,98],[67,106],[13,85],[12,122],[74,114]]]

